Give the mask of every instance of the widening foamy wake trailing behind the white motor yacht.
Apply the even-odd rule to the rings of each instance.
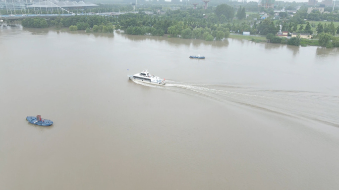
[[[164,86],[190,90],[221,101],[231,101],[267,111],[303,117],[339,127],[339,97],[316,92],[251,89],[240,86],[184,84],[168,81]]]

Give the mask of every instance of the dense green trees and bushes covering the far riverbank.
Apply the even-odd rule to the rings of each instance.
[[[177,4],[180,4],[180,2],[177,2]],[[153,14],[146,14],[144,11],[140,11],[140,9],[138,13],[126,13],[119,16],[99,16],[91,12],[90,15],[56,18],[47,20],[46,23],[48,26],[55,26],[56,29],[76,26],[77,30],[87,29],[86,32],[113,33],[114,30],[121,30],[123,33],[129,35],[167,36],[171,38],[204,39],[207,41],[223,40],[229,38],[229,34],[231,33],[241,35],[242,32],[249,32],[250,35],[256,36],[251,36],[250,38],[232,36],[231,38],[264,41],[262,38],[265,38],[268,34],[273,34],[274,36],[270,35],[267,38],[270,39],[271,43],[295,46],[337,46],[337,37],[331,37],[330,41],[326,42],[326,44],[319,43],[312,39],[300,39],[297,37],[284,39],[276,37],[279,31],[312,35],[315,33],[315,27],[318,34],[313,35],[313,38],[324,38],[325,36],[320,35],[321,33],[330,33],[333,36],[339,34],[339,26],[337,27],[337,23],[331,22],[323,25],[319,22],[318,26],[316,26],[311,21],[305,21],[306,19],[304,18],[308,17],[315,19],[309,15],[318,13],[312,12],[308,14],[306,12],[307,7],[302,4],[300,4],[300,10],[290,19],[287,19],[288,14],[286,12],[280,12],[279,16],[284,21],[273,19],[273,9],[261,7],[260,11],[262,12],[258,14],[258,12],[246,12],[246,10],[254,11],[253,8],[256,5],[253,3],[246,3],[243,6],[235,6],[235,4],[235,2],[228,2],[227,4],[217,3],[214,7],[208,7],[207,9],[192,9],[186,6],[174,10],[168,7],[162,7],[161,10],[163,12],[160,14],[160,12],[155,11],[158,9],[160,11],[160,6],[157,3],[148,3],[147,5],[143,5],[145,7],[144,11],[153,10]],[[100,6],[101,7],[93,9],[92,11],[98,11],[99,14],[99,11],[107,12],[109,10],[120,12],[120,8],[124,8],[124,10],[128,8],[125,5],[101,4]],[[280,8],[281,10],[282,8],[286,8],[286,10],[292,10],[295,6],[296,4],[293,3],[285,3],[283,6],[277,7],[277,9]],[[264,13],[268,14],[266,18],[260,16]],[[333,12],[331,12],[331,14],[333,14]],[[334,16],[332,19],[336,20],[337,16]],[[23,26],[46,28],[48,27],[46,23],[42,21],[41,24],[39,24],[38,20],[25,21]],[[75,30],[75,27],[71,27],[70,30]]]

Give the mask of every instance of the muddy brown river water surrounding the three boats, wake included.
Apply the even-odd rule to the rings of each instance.
[[[338,48],[0,26],[0,190],[338,190],[338,74]]]

